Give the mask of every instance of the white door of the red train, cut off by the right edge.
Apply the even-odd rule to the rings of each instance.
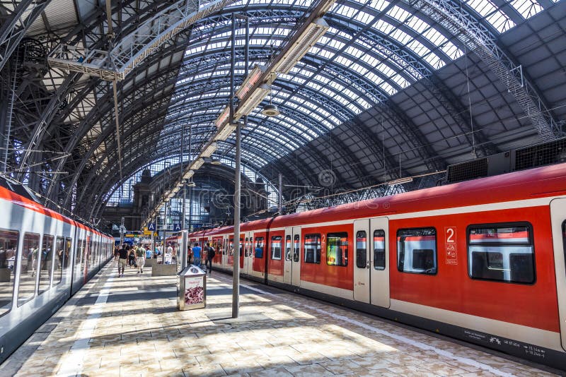
[[[553,229],[560,339],[562,348],[566,350],[566,199],[554,199],[550,202],[550,219]]]

